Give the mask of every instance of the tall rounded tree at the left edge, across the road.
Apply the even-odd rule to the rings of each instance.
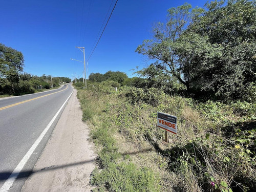
[[[17,50],[0,44],[0,83],[17,83],[18,73],[23,71],[24,57]]]

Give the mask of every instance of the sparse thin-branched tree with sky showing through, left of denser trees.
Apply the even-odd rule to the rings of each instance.
[[[164,73],[177,78],[190,90],[189,79],[183,75],[177,48],[178,40],[186,32],[189,23],[193,22],[203,12],[201,8],[191,9],[184,4],[167,10],[167,22],[157,23],[153,28],[153,39],[144,40],[136,52],[146,55],[149,59],[158,60],[155,65]]]

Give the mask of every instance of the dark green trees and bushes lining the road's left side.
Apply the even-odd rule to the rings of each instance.
[[[0,97],[23,95],[59,87],[62,82],[71,82],[67,77],[41,77],[23,72],[22,52],[0,44]]]

